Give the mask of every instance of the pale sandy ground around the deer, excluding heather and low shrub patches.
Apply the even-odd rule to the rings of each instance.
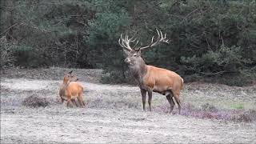
[[[166,98],[153,96],[153,112],[143,112],[138,87],[82,81],[86,108],[66,108],[58,98],[60,80],[1,79],[1,143],[8,142],[182,142],[256,143],[256,123],[234,123],[188,118],[158,110]],[[187,84],[182,102],[230,103],[255,109],[256,88]],[[38,95],[50,106],[28,108],[24,98]],[[177,110],[177,107],[174,108]]]

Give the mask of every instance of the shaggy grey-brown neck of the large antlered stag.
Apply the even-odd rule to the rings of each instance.
[[[138,81],[139,85],[143,83],[143,77],[146,75],[146,64],[143,59],[139,59],[135,65],[129,66],[131,73],[134,75],[134,78]]]

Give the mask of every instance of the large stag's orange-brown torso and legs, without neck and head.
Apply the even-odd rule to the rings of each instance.
[[[174,97],[178,104],[178,112],[180,114],[181,104],[179,95],[183,87],[183,79],[178,74],[174,71],[146,65],[146,74],[142,77],[140,87],[142,93],[144,90],[148,91],[150,110],[152,98],[150,91],[154,91],[166,95],[168,102],[170,102],[170,113],[174,109],[174,100],[172,99]]]

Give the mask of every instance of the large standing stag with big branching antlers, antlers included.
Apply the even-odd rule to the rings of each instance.
[[[151,111],[152,92],[166,95],[168,102],[170,103],[170,113],[174,109],[174,99],[178,104],[178,114],[181,113],[181,102],[179,98],[180,90],[183,87],[183,79],[174,71],[158,68],[155,66],[146,65],[141,57],[141,50],[157,46],[161,42],[168,43],[166,34],[163,36],[161,31],[158,31],[158,38],[154,42],[154,37],[151,39],[151,43],[148,46],[137,46],[138,41],[134,46],[130,46],[130,42],[135,42],[134,36],[129,38],[126,34],[125,38],[121,37],[118,40],[120,46],[122,46],[124,53],[126,54],[125,62],[129,64],[130,72],[138,82],[138,86],[142,94],[143,110],[146,104],[146,92],[148,93],[148,103]]]

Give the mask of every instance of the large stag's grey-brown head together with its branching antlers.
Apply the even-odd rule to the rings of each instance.
[[[148,46],[137,46],[138,45],[137,38],[134,38],[134,36],[132,38],[129,38],[127,34],[125,38],[122,38],[122,34],[121,34],[118,42],[119,42],[119,45],[122,46],[122,49],[126,54],[125,62],[130,64],[130,66],[138,65],[139,62],[144,62],[141,57],[141,50],[145,50],[147,48],[157,46],[161,42],[168,43],[168,39],[166,39],[166,34],[163,35],[162,32],[159,30],[157,30],[157,33],[158,33],[158,37],[154,38],[153,36],[151,38],[150,45]]]

